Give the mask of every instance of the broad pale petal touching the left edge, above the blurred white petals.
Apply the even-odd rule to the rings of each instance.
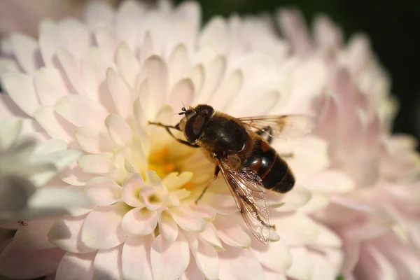
[[[4,73],[1,76],[1,81],[13,102],[29,116],[34,116],[39,102],[36,97],[33,78],[24,73]]]

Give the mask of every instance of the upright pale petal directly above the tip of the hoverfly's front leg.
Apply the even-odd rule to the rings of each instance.
[[[162,102],[166,99],[168,86],[168,69],[162,58],[153,55],[146,59],[139,82],[147,80],[147,89],[139,96],[141,104],[148,104],[144,107],[147,118],[155,118]]]

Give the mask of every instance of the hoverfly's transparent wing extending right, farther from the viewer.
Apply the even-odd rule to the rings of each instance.
[[[262,134],[283,139],[302,137],[315,127],[313,118],[302,115],[258,116],[238,120],[254,132],[261,131]]]

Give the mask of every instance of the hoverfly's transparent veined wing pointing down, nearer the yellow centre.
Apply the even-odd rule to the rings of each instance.
[[[218,160],[218,165],[249,230],[263,244],[269,244],[272,226],[260,177],[251,170],[235,171],[228,160]]]

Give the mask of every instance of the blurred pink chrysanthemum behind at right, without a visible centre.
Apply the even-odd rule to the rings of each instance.
[[[411,137],[388,132],[396,102],[366,36],[344,45],[339,28],[323,16],[311,36],[297,10],[279,10],[283,38],[262,18],[248,22],[266,30],[261,40],[267,44],[254,50],[277,62],[284,61],[285,50],[303,61],[323,62],[323,76],[312,72],[309,83],[322,78],[327,94],[314,91],[307,99],[321,116],[317,134],[328,141],[330,167],[351,176],[357,188],[332,195],[332,204],[314,216],[344,239],[345,278],[418,279],[420,158]],[[244,37],[252,32],[246,29]]]

